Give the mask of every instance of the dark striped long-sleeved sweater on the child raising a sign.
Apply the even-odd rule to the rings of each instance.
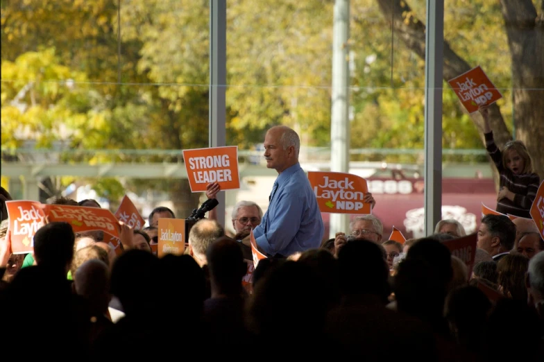
[[[495,166],[500,175],[500,187],[507,187],[516,196],[513,202],[508,198],[503,198],[497,202],[497,211],[502,214],[511,214],[523,218],[531,218],[529,210],[536,197],[536,191],[540,186],[540,177],[536,173],[525,173],[523,175],[514,175],[512,171],[504,168],[502,165],[502,153],[493,140],[493,132],[486,133],[487,153],[495,162]]]

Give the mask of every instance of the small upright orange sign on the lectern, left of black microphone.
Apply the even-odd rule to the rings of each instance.
[[[185,250],[185,219],[160,218],[157,255],[182,255]]]

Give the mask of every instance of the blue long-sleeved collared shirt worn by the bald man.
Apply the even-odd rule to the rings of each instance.
[[[269,208],[253,234],[257,245],[270,256],[319,248],[325,227],[309,180],[294,164],[274,182]]]

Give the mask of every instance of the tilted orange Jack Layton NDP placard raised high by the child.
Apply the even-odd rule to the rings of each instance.
[[[482,67],[477,66],[464,74],[448,80],[468,113],[473,113],[482,105],[495,103],[502,94],[487,78]]]

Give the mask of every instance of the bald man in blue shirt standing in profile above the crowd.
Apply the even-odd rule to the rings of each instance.
[[[258,247],[270,257],[318,248],[323,219],[309,180],[298,163],[300,139],[294,130],[275,126],[264,137],[266,167],[278,171],[268,210],[253,234]]]

